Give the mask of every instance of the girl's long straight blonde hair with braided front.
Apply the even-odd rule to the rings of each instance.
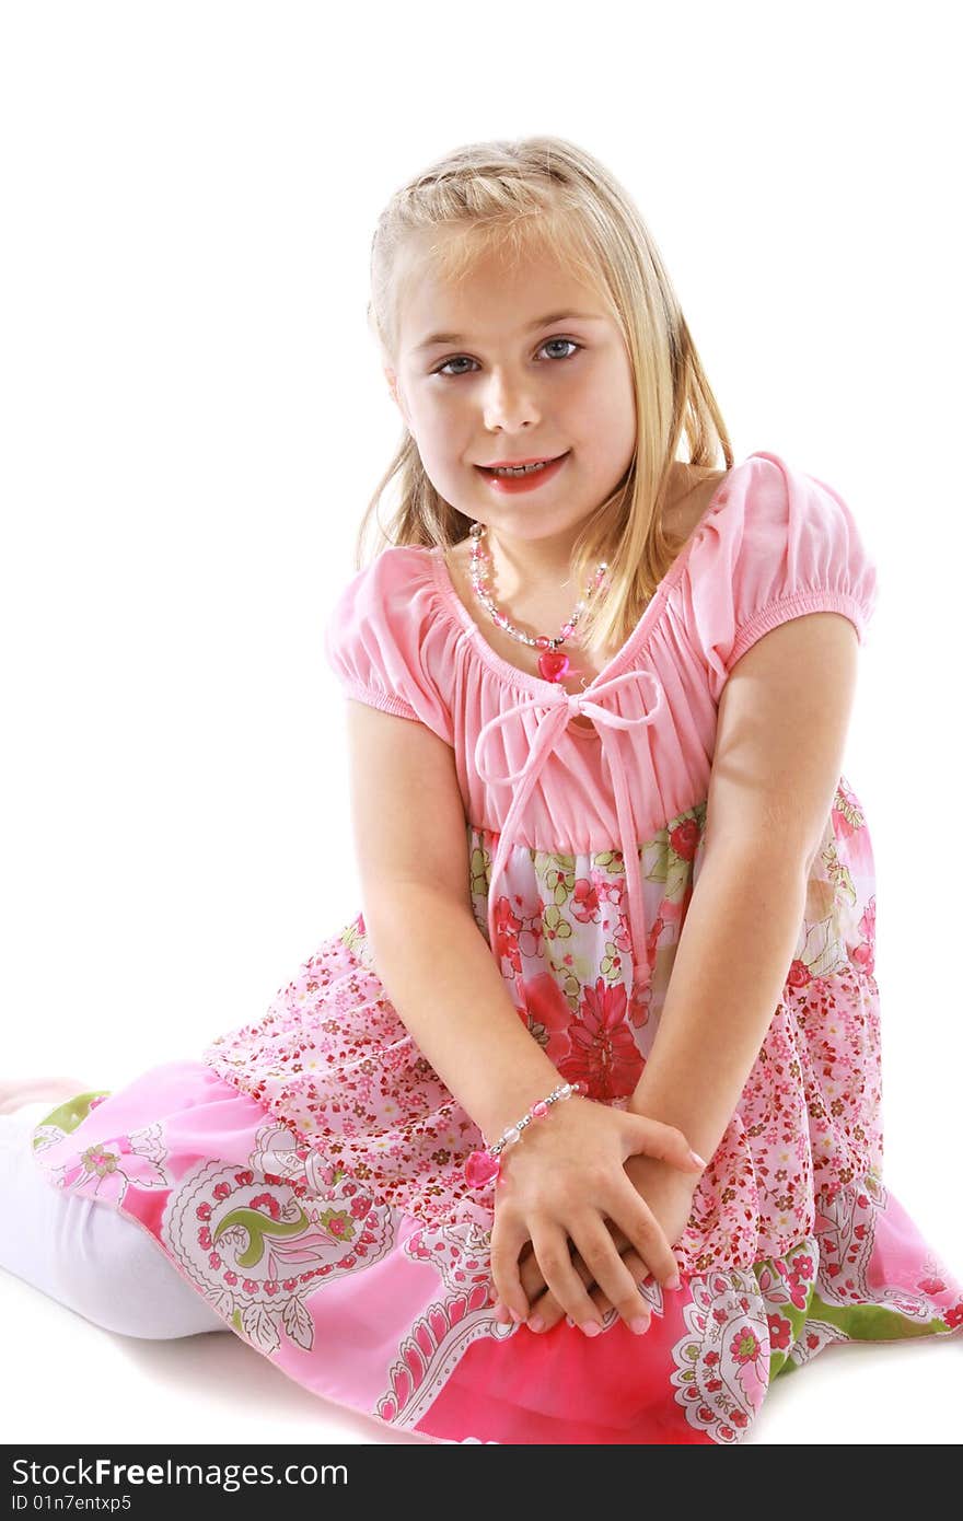
[[[590,651],[619,646],[637,624],[685,537],[666,534],[662,513],[685,432],[698,478],[721,449],[733,453],[695,344],[653,237],[634,202],[584,149],[558,137],[472,143],[446,154],[402,186],[382,211],[371,242],[368,324],[393,364],[406,278],[406,239],[441,230],[426,245],[444,278],[458,280],[476,256],[522,260],[551,251],[589,284],[618,322],[636,395],[636,449],[615,491],[590,514],[572,551],[572,580],[586,587],[609,563],[601,598],[589,599],[580,640]],[[453,236],[452,236],[453,234]],[[418,239],[421,242],[421,239]],[[412,239],[414,243],[414,239]],[[379,503],[397,478],[400,503],[382,528]],[[472,519],[429,481],[414,437],[402,443],[364,514],[356,566],[374,517],[380,549],[443,545],[467,537]]]

